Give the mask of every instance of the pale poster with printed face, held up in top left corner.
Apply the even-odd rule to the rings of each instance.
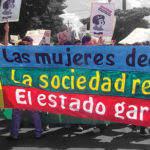
[[[22,0],[2,0],[0,5],[0,23],[19,21]]]

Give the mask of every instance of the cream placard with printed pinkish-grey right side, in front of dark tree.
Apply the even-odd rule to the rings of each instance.
[[[33,39],[33,45],[50,45],[50,30],[31,30],[27,31],[26,36],[30,36]]]

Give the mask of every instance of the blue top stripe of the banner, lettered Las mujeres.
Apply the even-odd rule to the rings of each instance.
[[[0,46],[0,67],[150,72],[149,46]]]

